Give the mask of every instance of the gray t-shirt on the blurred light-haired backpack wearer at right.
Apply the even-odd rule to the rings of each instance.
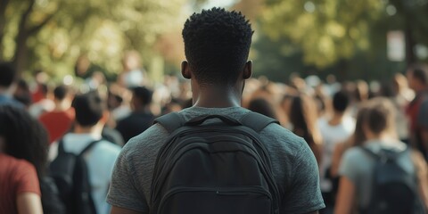
[[[381,149],[403,151],[407,148],[406,144],[399,141],[368,141],[364,147],[372,152],[379,153]],[[397,159],[399,166],[408,173],[415,173],[415,168],[410,152],[399,156]],[[339,174],[347,177],[355,185],[356,206],[366,208],[370,202],[372,193],[374,158],[360,147],[350,148],[343,154]]]

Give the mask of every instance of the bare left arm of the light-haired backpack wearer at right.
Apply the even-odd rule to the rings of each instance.
[[[341,177],[339,184],[339,193],[336,197],[334,214],[348,214],[353,208],[355,185],[348,177]]]

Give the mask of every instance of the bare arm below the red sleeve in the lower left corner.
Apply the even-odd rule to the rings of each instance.
[[[16,198],[19,214],[41,214],[43,213],[42,200],[37,193],[20,193]]]

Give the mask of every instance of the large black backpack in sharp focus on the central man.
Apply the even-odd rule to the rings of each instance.
[[[204,123],[209,119],[219,119]],[[176,113],[155,119],[170,136],[153,171],[151,214],[279,213],[279,193],[259,131],[277,123],[259,113],[243,119]]]

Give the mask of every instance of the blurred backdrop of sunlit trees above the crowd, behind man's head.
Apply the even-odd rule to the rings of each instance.
[[[251,20],[256,77],[370,81],[428,61],[428,0],[0,0],[0,59],[23,77],[70,83],[96,70],[113,81],[135,50],[162,81],[185,59],[185,19],[212,6]]]

